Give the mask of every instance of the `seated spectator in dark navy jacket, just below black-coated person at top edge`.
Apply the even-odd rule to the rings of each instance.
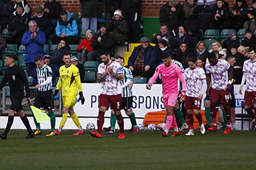
[[[185,31],[185,27],[183,25],[178,27],[178,33],[173,38],[173,41],[171,42],[172,48],[179,48],[181,46],[182,42],[186,42],[186,44],[189,44],[189,37]]]

